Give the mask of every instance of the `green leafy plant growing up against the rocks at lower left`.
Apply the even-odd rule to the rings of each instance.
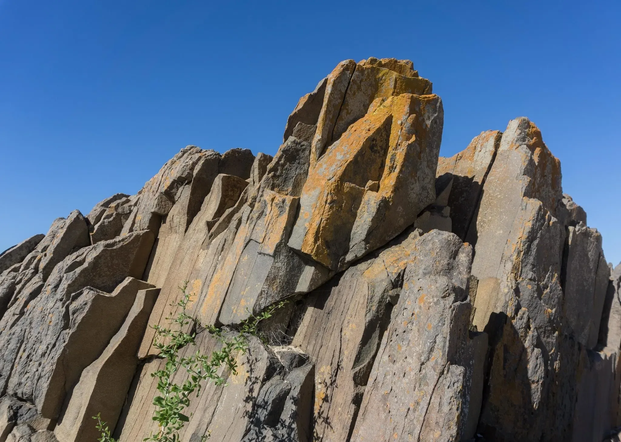
[[[152,419],[158,422],[159,430],[151,434],[144,441],[151,442],[178,442],[179,430],[189,421],[189,416],[184,414],[184,410],[190,405],[190,395],[196,392],[196,397],[201,394],[202,381],[214,382],[215,385],[227,385],[226,377],[220,371],[221,367],[226,367],[232,374],[237,374],[236,357],[248,350],[248,336],[258,336],[258,325],[261,321],[270,318],[274,310],[281,308],[286,301],[279,302],[270,306],[258,316],[250,315],[247,320],[242,321],[236,330],[225,333],[220,328],[208,326],[207,331],[216,336],[222,343],[222,348],[213,351],[211,355],[201,354],[197,350],[191,356],[180,356],[179,351],[189,344],[195,345],[194,338],[196,333],[186,333],[186,326],[194,323],[195,320],[186,313],[186,307],[190,301],[188,293],[188,282],[184,282],[181,290],[181,299],[171,306],[176,307],[179,313],[173,318],[166,318],[170,321],[170,328],[158,325],[152,326],[156,331],[156,338],[153,346],[160,351],[160,356],[165,359],[166,364],[163,369],[152,373],[152,377],[158,379],[157,390],[160,392],[153,398],[155,412]],[[193,324],[194,325],[194,324]],[[193,328],[193,327],[191,327]],[[173,377],[184,369],[188,377],[182,384],[173,382]],[[110,436],[110,431],[106,422],[101,421],[99,415],[97,419],[97,430],[102,432],[99,442],[116,442]],[[209,438],[203,436],[202,441]]]

